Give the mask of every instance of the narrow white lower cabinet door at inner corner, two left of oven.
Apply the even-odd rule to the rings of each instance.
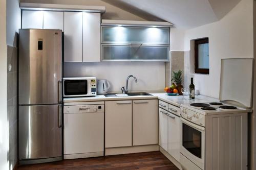
[[[159,108],[159,137],[158,142],[168,152],[168,112]]]

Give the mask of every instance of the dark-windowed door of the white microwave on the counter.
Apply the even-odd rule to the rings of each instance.
[[[88,81],[86,79],[63,80],[63,96],[79,97],[88,95]]]

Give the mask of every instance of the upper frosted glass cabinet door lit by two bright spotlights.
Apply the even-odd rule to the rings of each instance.
[[[169,28],[102,27],[102,43],[169,44]]]

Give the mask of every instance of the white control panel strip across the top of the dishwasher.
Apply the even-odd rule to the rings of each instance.
[[[104,105],[72,105],[64,106],[64,113],[94,113],[104,112]]]

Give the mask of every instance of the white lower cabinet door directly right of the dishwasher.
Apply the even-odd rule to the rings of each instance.
[[[105,148],[132,146],[132,101],[105,102]]]

